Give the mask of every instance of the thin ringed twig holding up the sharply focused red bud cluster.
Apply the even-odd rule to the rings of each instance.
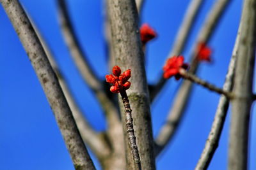
[[[126,122],[126,129],[127,129],[127,136],[129,139],[129,143],[131,146],[131,151],[132,151],[132,157],[134,160],[134,163],[136,164],[136,167],[138,169],[141,169],[141,164],[140,164],[140,154],[138,151],[138,146],[136,144],[136,136],[134,134],[134,129],[133,129],[133,124],[132,124],[132,110],[130,107],[129,99],[128,96],[124,91],[120,92],[122,96],[122,100],[124,103],[124,113],[125,113],[125,122]]]

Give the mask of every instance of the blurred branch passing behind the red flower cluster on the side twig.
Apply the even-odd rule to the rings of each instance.
[[[189,32],[191,31],[193,24],[195,23],[196,16],[198,15],[202,3],[202,0],[193,0],[188,6],[188,10],[186,11],[184,20],[180,25],[179,32],[175,38],[174,45],[172,47],[171,52],[168,55],[168,58],[173,57],[173,55],[180,55],[183,52],[184,47],[188,41]],[[157,94],[161,91],[166,80],[161,76],[161,78],[157,81],[156,86],[150,92],[150,100],[152,101]]]

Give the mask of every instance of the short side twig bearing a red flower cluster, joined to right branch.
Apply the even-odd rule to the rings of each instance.
[[[197,76],[187,72],[185,69],[180,69],[179,73],[182,75],[183,78],[190,80],[194,83],[197,83],[198,85],[202,85],[203,87],[206,87],[207,89],[211,90],[212,92],[216,92],[218,94],[223,94],[228,98],[230,98],[232,96],[230,94],[230,92],[220,89],[220,88],[212,85],[211,83],[208,83],[207,81],[201,80]]]

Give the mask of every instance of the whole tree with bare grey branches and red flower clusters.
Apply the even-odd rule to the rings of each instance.
[[[232,121],[228,169],[247,169],[250,108],[255,99],[252,92],[256,43],[255,0],[244,0],[239,31],[223,88],[212,85],[211,80],[201,80],[196,73],[202,62],[212,60],[212,50],[207,44],[230,1],[216,1],[196,39],[191,60],[184,63],[184,56],[180,54],[184,51],[203,2],[191,1],[170,56],[163,66],[163,74],[155,85],[147,83],[145,53],[148,41],[155,38],[157,33],[148,24],[143,24],[139,29],[138,12],[141,11],[143,1],[106,1],[106,37],[112,71],[106,75],[106,82],[111,83],[109,86],[93,73],[79,46],[67,4],[59,0],[61,30],[67,46],[84,81],[92,89],[106,115],[108,129],[102,134],[95,132],[83,117],[54,57],[19,1],[0,2],[35,69],[76,169],[95,169],[86,146],[95,153],[104,169],[156,169],[156,157],[177,131],[193,83],[220,94],[211,132],[195,169],[207,169],[209,166],[218,146],[229,103],[232,104]],[[122,73],[121,69],[126,71]],[[166,79],[173,76],[176,80],[184,81],[177,91],[166,123],[153,138],[150,103],[163,89]]]

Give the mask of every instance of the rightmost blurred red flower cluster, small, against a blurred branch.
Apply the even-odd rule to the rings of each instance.
[[[196,59],[199,61],[205,60],[211,62],[212,50],[205,43],[198,43]]]

